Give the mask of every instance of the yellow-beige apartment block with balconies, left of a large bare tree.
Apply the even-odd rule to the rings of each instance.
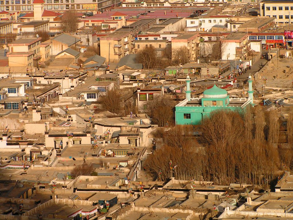
[[[106,58],[106,62],[119,62],[122,57],[132,53],[134,45],[131,32],[114,32],[100,37],[100,56]]]

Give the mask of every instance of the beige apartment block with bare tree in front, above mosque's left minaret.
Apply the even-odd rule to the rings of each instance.
[[[198,33],[180,34],[172,39],[172,54],[181,47],[187,47],[190,60],[197,60],[200,35]]]

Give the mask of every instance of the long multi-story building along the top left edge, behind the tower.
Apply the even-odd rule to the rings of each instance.
[[[33,4],[44,3],[46,10],[65,11],[98,11],[118,4],[119,0],[0,0],[1,11],[33,11]]]

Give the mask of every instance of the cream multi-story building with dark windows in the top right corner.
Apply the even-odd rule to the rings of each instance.
[[[276,23],[293,23],[293,0],[263,0],[260,2],[260,16],[276,18]]]

